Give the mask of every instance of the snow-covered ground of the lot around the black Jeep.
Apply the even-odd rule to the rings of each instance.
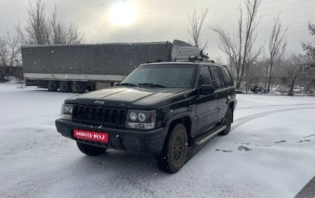
[[[70,93],[0,84],[0,197],[294,197],[315,175],[315,97],[237,95],[231,133],[180,172],[154,157],[88,157],[55,129]]]

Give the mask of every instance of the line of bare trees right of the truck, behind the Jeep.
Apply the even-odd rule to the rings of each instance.
[[[315,47],[312,42],[302,43],[307,55],[287,52],[287,29],[283,30],[280,14],[274,19],[267,43],[263,46],[256,44],[261,1],[242,1],[237,33],[233,36],[220,26],[208,27],[218,35],[218,48],[227,57],[227,65],[235,79],[236,89],[248,91],[251,86],[262,83],[269,92],[275,75],[280,77],[281,83],[287,85],[289,95],[293,95],[294,86],[300,79],[306,88],[314,88]],[[208,10],[202,10],[200,14],[193,10],[188,16],[189,41],[194,46],[207,46],[207,41],[203,45],[200,43],[200,35]],[[310,34],[315,35],[315,25],[309,23],[308,28]]]

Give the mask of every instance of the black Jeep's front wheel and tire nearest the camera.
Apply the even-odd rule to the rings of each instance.
[[[175,173],[184,165],[186,155],[187,131],[178,123],[166,136],[163,150],[155,156],[155,161],[160,170]]]

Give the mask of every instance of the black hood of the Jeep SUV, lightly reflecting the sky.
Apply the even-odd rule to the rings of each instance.
[[[187,88],[111,87],[66,99],[66,103],[116,108],[155,109],[187,99]]]

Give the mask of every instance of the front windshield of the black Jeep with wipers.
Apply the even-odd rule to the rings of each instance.
[[[196,68],[184,64],[139,66],[120,85],[191,88]]]

